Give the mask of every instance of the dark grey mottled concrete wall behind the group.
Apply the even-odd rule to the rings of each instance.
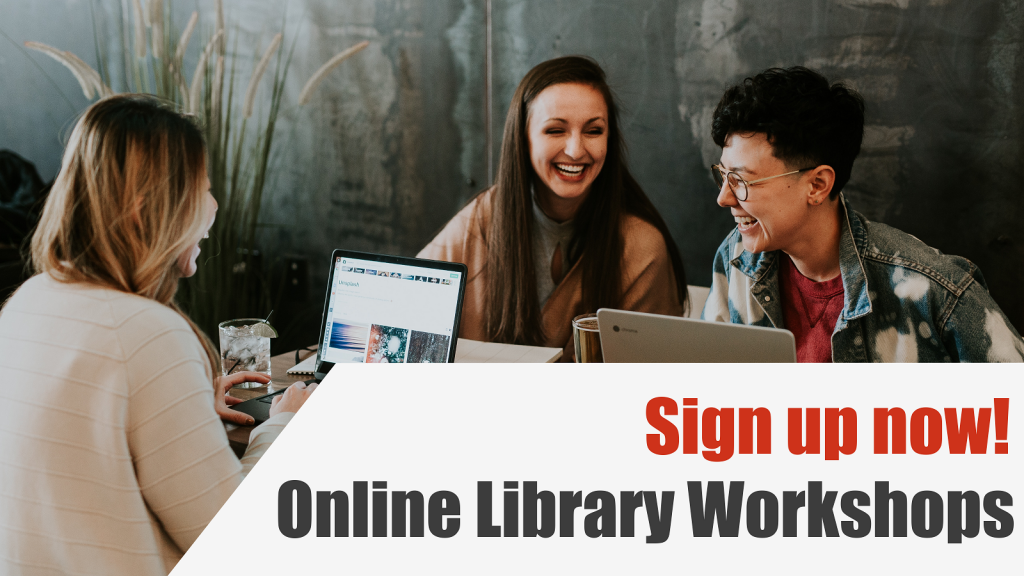
[[[97,0],[100,19],[116,22],[121,3]],[[608,72],[626,111],[632,167],[691,282],[710,281],[714,249],[732,225],[708,173],[718,158],[711,112],[745,76],[806,65],[867,100],[864,150],[847,187],[855,207],[971,258],[1024,328],[1024,242],[1015,232],[1024,211],[1020,0],[227,0],[240,53],[265,45],[286,4],[298,44],[264,243],[312,259],[313,300],[333,248],[414,254],[486,184],[522,75],[552,56],[584,53]],[[179,27],[191,9],[175,3]],[[3,15],[0,31],[16,42],[37,39],[95,60],[86,1],[5,0]],[[115,50],[116,34],[104,37]],[[371,47],[310,106],[294,106],[321,63],[364,39]],[[61,128],[87,102],[58,65],[32,60],[68,97],[0,38],[0,148],[49,177]]]

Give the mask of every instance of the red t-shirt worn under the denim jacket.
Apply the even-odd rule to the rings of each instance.
[[[797,338],[797,362],[831,362],[831,333],[843,312],[843,276],[814,282],[781,254],[779,291],[786,330]]]

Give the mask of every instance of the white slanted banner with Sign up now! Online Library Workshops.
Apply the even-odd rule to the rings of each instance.
[[[1019,367],[340,368],[176,576],[1019,569]]]

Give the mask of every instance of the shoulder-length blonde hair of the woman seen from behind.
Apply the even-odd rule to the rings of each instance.
[[[213,344],[174,302],[178,257],[212,216],[205,179],[203,134],[173,105],[142,94],[103,98],[75,125],[31,252],[37,274],[176,311],[202,342],[212,377]]]

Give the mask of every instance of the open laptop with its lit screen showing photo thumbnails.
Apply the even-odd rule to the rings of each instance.
[[[455,362],[466,265],[335,250],[313,378],[337,364]],[[278,390],[233,406],[269,418]]]

